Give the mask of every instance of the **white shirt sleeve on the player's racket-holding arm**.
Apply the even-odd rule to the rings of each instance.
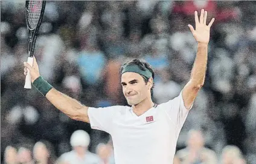
[[[114,116],[123,109],[124,106],[111,106],[111,107],[89,107],[88,117],[91,128],[106,131],[110,134],[112,129],[112,122]]]

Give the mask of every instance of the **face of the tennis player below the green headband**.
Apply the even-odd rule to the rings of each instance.
[[[125,72],[121,76],[123,93],[130,106],[139,104],[141,101],[151,96],[151,84],[151,82],[146,84],[141,75],[134,72]]]

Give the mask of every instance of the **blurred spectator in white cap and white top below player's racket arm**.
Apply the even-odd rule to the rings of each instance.
[[[72,151],[62,154],[59,158],[60,163],[69,164],[95,164],[100,163],[100,158],[88,151],[88,146],[90,144],[90,137],[86,131],[77,130],[72,133],[70,138],[70,144]]]

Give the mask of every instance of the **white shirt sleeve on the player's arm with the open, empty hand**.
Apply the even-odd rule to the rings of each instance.
[[[187,119],[189,110],[184,105],[184,100],[182,98],[182,91],[179,93],[179,96],[171,99],[167,103],[164,103],[165,112],[168,115],[168,118],[173,122],[178,130],[180,131],[184,125],[185,120]]]

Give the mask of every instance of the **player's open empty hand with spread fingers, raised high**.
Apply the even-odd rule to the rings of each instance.
[[[211,19],[211,22],[206,25],[206,19],[207,19],[207,11],[201,10],[200,14],[200,20],[197,15],[197,11],[194,11],[194,20],[196,22],[196,30],[194,30],[192,25],[188,25],[190,27],[190,30],[194,36],[194,39],[198,43],[209,43],[210,40],[210,28],[211,25],[213,25],[214,18]]]

